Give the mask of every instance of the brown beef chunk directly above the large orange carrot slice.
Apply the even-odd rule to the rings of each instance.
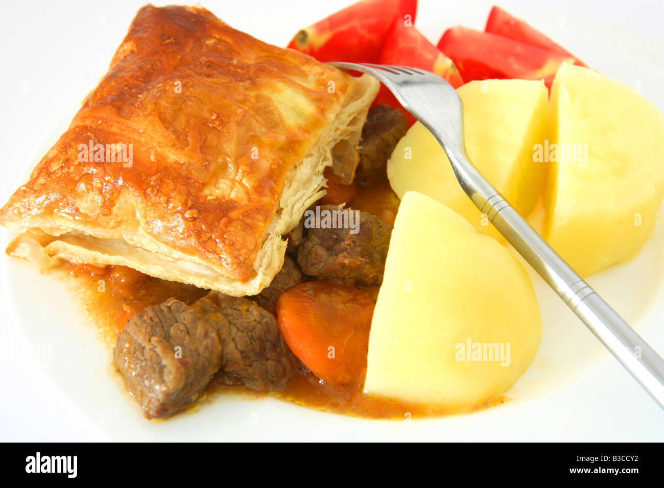
[[[357,210],[334,205],[320,207],[330,212],[353,212]],[[350,218],[347,214],[345,218]],[[338,220],[333,218],[333,220]],[[350,222],[350,220],[347,220]],[[297,246],[297,262],[302,271],[317,278],[333,278],[348,285],[374,285],[382,282],[385,258],[390,244],[392,226],[367,212],[359,212],[359,228],[353,233],[351,226],[342,228],[307,228],[305,236]]]

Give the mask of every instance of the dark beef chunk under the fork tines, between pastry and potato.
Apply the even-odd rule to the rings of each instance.
[[[406,131],[408,120],[401,110],[388,105],[378,105],[371,110],[362,129],[355,181],[365,184],[385,181],[387,160]]]

